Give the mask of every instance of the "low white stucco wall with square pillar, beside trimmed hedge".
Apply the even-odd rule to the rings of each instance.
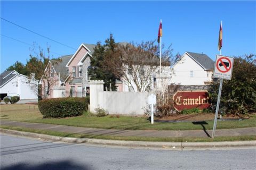
[[[148,92],[103,91],[103,81],[90,84],[90,111],[106,109],[109,114],[143,115],[148,108]]]

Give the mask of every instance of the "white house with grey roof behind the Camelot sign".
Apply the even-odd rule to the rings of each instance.
[[[205,54],[185,52],[173,66],[171,84],[206,85],[211,83],[214,61]]]

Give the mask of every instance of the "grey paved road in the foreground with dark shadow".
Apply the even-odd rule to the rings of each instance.
[[[6,169],[256,169],[256,150],[153,150],[73,145],[1,135]]]

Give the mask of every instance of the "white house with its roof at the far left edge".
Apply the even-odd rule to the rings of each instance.
[[[5,96],[20,96],[22,99],[37,99],[38,80],[31,80],[17,71],[5,71],[1,74],[0,94]]]

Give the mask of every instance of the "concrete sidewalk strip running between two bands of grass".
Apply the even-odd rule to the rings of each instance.
[[[122,137],[202,137],[209,138],[212,134],[211,130],[186,130],[186,131],[157,131],[157,130],[113,130],[113,129],[95,129],[95,128],[81,128],[65,125],[53,125],[43,123],[27,123],[15,121],[3,121],[1,125],[20,126],[23,128],[37,129],[37,130],[51,130],[67,133],[84,133],[93,135],[111,135]],[[256,127],[254,128],[241,128],[241,129],[223,129],[216,130],[215,137],[231,137],[242,135],[255,135]]]

